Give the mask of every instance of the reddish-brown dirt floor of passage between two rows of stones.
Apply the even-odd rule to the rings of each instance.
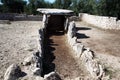
[[[71,55],[70,48],[66,44],[66,36],[62,33],[48,36],[46,48],[49,51],[46,51],[45,55],[47,61],[45,70],[57,71],[63,80],[71,80],[83,76],[83,71],[79,68],[76,60]]]

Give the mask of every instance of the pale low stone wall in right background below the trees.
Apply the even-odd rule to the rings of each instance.
[[[120,20],[116,17],[96,16],[87,13],[79,13],[82,21],[98,26],[103,29],[120,29]]]

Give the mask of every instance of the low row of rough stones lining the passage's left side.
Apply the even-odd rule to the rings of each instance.
[[[4,75],[4,80],[43,80],[43,54],[44,54],[44,27],[40,28],[38,38],[35,40],[37,49],[30,56],[26,56],[21,63],[10,65]],[[24,77],[26,74],[27,77]]]

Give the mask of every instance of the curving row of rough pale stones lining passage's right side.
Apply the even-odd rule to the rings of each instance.
[[[75,52],[74,55],[84,64],[86,70],[91,74],[90,77],[92,78],[90,80],[104,80],[105,72],[103,66],[98,62],[98,59],[95,58],[94,52],[77,42],[76,25],[74,21],[70,22],[68,27],[67,39]]]

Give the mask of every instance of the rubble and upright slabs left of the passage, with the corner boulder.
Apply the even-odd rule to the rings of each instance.
[[[44,41],[44,30],[39,30],[39,39],[38,48],[30,56],[27,56],[24,61],[21,63],[21,66],[24,67],[23,70],[25,73],[28,73],[29,76],[41,77],[43,72],[42,60],[43,60],[43,41]],[[21,69],[17,64],[12,64],[7,69],[4,80],[18,80],[21,74]],[[31,75],[32,74],[32,75]],[[23,78],[24,80],[24,78]]]

